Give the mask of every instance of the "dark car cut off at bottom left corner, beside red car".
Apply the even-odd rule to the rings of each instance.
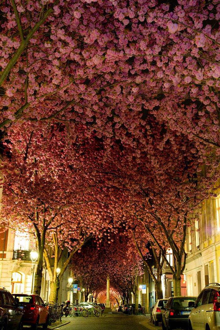
[[[1,329],[22,330],[22,310],[15,298],[4,287],[0,287],[0,325]]]

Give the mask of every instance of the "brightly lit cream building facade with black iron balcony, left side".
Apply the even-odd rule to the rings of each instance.
[[[19,230],[2,229],[0,232],[0,285],[12,293],[27,293],[32,291],[33,265],[30,251],[34,248],[33,239],[28,232]],[[67,259],[68,251],[63,253],[60,265]],[[52,261],[52,260],[51,260]],[[58,302],[65,301],[69,297],[70,276],[67,269],[60,281]],[[43,267],[41,297],[44,302],[49,300],[49,274],[46,263]]]

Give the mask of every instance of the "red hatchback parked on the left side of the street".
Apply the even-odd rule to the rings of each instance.
[[[18,306],[23,311],[22,322],[25,325],[31,325],[33,330],[42,325],[47,329],[49,313],[45,303],[37,294],[13,293]]]

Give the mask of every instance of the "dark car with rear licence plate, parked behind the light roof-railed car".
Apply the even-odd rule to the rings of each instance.
[[[196,297],[190,296],[169,298],[162,314],[162,329],[188,329],[188,317],[195,301]]]

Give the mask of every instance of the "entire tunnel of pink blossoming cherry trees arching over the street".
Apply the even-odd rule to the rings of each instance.
[[[36,238],[34,292],[45,258],[52,301],[69,263],[86,297],[109,274],[137,309],[143,265],[161,297],[163,262],[179,294],[219,180],[218,1],[6,0],[0,17],[0,224]]]

